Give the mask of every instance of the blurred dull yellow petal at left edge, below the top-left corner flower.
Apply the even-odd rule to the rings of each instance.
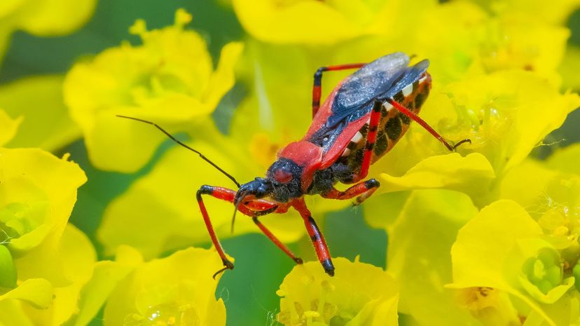
[[[0,87],[0,107],[21,122],[7,147],[57,151],[81,136],[62,100],[63,79],[58,75],[34,76]]]

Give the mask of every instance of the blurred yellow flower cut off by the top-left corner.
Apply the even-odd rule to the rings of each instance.
[[[36,36],[73,32],[87,22],[95,0],[17,0],[0,3],[0,60],[12,32],[22,29]]]

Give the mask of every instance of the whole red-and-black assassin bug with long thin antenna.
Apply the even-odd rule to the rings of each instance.
[[[378,189],[376,179],[361,181],[368,174],[371,164],[381,158],[398,142],[416,121],[431,135],[440,140],[450,151],[470,140],[451,144],[431,128],[417,114],[429,95],[431,76],[427,72],[428,60],[408,66],[410,58],[404,53],[392,53],[368,64],[343,64],[321,67],[314,75],[312,88],[312,124],[302,140],[291,142],[277,154],[265,177],[239,184],[234,177],[202,156],[155,123],[132,118],[155,125],[172,140],[198,153],[214,165],[239,187],[237,191],[220,186],[201,186],[197,192],[207,231],[223,262],[223,269],[214,274],[233,269],[221,247],[202,196],[228,201],[252,218],[258,228],[297,264],[302,259],[280,242],[258,217],[270,213],[284,213],[289,208],[297,210],[304,220],[319,262],[329,276],[334,275],[331,254],[315,219],[305,205],[304,195],[319,194],[324,198],[355,198],[355,205],[362,203]],[[320,106],[323,72],[359,69],[341,81]],[[121,116],[123,118],[130,118]],[[338,191],[334,184],[353,184],[345,191]]]

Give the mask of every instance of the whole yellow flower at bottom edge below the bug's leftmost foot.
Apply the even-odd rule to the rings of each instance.
[[[105,326],[226,325],[212,279],[221,266],[214,250],[189,248],[143,262],[136,250],[119,247],[116,262],[95,265],[74,325],[87,325],[105,301]]]

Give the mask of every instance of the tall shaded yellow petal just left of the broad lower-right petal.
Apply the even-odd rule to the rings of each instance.
[[[412,315],[420,325],[475,322],[457,306],[456,293],[443,286],[452,280],[450,249],[457,231],[476,214],[463,193],[413,191],[394,225],[382,226],[389,234],[387,271],[401,285],[400,313]]]

